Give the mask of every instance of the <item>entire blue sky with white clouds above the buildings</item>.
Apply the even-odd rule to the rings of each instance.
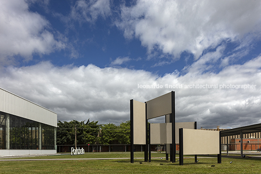
[[[60,121],[119,125],[130,99],[175,91],[176,122],[261,123],[260,12],[259,0],[0,0],[0,88]]]

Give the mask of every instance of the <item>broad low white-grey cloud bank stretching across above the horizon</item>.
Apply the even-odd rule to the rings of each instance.
[[[219,51],[213,54],[218,57]],[[0,70],[0,87],[55,111],[62,121],[90,118],[99,120],[100,124],[119,124],[130,119],[131,98],[144,102],[173,90],[176,121],[197,121],[199,127],[205,128],[259,123],[261,57],[242,65],[226,66],[218,74],[194,73],[196,66],[200,63],[187,67],[185,75],[176,71],[158,77],[143,70],[99,68],[92,64],[55,67],[50,62],[42,62]],[[138,84],[159,84],[162,88],[141,89]],[[166,84],[182,84],[182,88],[166,88]],[[185,88],[193,84],[218,85],[218,89]],[[230,84],[256,86],[231,89]],[[229,85],[229,88],[220,89],[220,85]]]

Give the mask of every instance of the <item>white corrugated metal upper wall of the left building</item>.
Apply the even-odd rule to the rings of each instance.
[[[0,88],[0,111],[57,127],[57,114]]]

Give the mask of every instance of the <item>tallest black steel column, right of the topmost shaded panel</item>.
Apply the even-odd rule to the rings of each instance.
[[[170,115],[169,115],[170,116]],[[171,125],[172,125],[172,163],[176,162],[176,142],[175,142],[175,92],[171,91]],[[170,156],[170,157],[171,157]]]

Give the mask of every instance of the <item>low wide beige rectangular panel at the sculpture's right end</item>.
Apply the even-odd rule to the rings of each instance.
[[[183,154],[219,154],[219,131],[183,129]]]

